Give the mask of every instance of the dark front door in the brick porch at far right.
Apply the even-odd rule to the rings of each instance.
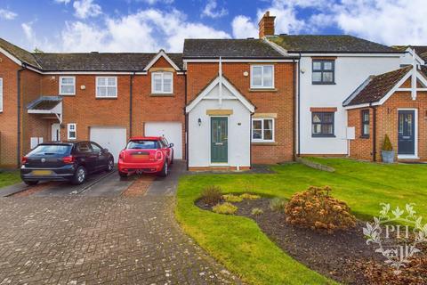
[[[415,154],[415,110],[399,110],[399,154]]]

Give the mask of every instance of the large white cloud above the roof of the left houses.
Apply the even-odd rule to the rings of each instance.
[[[120,18],[106,18],[103,24],[68,22],[61,32],[60,49],[66,52],[182,52],[184,38],[230,38],[173,10],[142,10]]]

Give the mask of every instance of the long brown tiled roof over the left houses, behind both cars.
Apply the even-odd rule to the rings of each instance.
[[[157,53],[29,53],[0,38],[0,47],[43,71],[141,71]],[[182,53],[166,53],[182,69]]]

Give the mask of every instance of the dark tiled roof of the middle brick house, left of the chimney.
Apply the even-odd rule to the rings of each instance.
[[[262,39],[186,39],[184,58],[283,58]]]

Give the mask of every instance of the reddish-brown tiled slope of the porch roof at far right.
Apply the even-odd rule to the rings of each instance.
[[[353,106],[380,101],[411,69],[412,66],[407,66],[402,69],[367,78],[367,80],[344,101],[343,105]]]

